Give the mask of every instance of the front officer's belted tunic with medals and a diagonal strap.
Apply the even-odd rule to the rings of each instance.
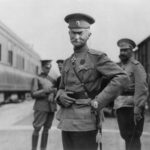
[[[72,67],[76,59],[76,71],[85,83],[89,92],[95,93],[100,108],[106,106],[119,94],[128,83],[126,73],[113,63],[105,53],[89,49],[84,46],[82,54],[73,54],[64,62],[60,89],[72,92],[85,92],[81,82],[75,75]],[[102,76],[111,79],[108,86],[100,92]],[[76,99],[78,101],[78,99]],[[58,128],[63,131],[90,131],[96,130],[95,115],[91,113],[90,106],[76,105],[61,107],[57,118],[60,121]]]

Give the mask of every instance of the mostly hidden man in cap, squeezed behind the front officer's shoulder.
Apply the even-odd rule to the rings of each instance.
[[[61,73],[62,73],[62,68],[63,68],[64,60],[58,59],[56,61],[56,63],[58,64],[58,69],[59,69],[59,72],[60,72],[60,76],[57,78],[57,81],[56,81],[56,87],[57,87],[57,89],[59,89],[59,85],[60,85],[60,81],[61,81]]]

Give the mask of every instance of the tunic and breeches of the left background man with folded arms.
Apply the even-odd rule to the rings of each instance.
[[[36,94],[35,96],[34,92],[42,90],[44,87],[51,88],[52,86],[54,86],[54,80],[50,76],[46,76],[44,73],[41,73],[32,81],[31,93],[33,98],[35,98],[33,107],[33,126],[35,128],[41,128],[43,125],[50,128],[54,118],[54,112],[56,111],[56,103],[48,100],[50,98],[50,94],[43,92]]]

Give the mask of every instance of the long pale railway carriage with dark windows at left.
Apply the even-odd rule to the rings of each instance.
[[[40,68],[40,56],[0,22],[0,103],[30,93],[31,80]]]

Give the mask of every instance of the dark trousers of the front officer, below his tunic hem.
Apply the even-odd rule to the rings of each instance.
[[[97,150],[97,131],[62,131],[63,150]]]

